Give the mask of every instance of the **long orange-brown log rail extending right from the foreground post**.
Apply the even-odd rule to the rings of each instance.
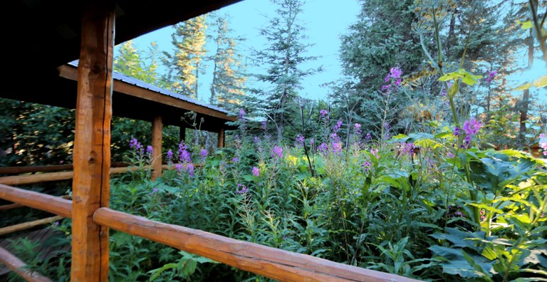
[[[151,221],[108,208],[95,211],[93,220],[111,229],[141,236],[279,281],[417,281],[230,239],[205,231]]]

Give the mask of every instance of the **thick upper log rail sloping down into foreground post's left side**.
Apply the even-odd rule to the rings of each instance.
[[[0,184],[0,198],[63,217],[72,217],[72,202],[61,197]]]

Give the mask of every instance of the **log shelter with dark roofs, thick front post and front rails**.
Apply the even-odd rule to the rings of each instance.
[[[153,147],[161,147],[162,124],[180,125],[184,111],[212,119],[204,128],[219,132],[219,145],[224,142],[224,122],[233,120],[218,108],[172,97],[114,74],[114,43],[236,1],[7,1],[4,11],[17,16],[15,21],[2,18],[5,66],[10,71],[4,75],[0,97],[75,108],[76,122],[73,199],[5,183],[0,184],[0,198],[72,219],[72,281],[108,281],[109,229],[280,281],[412,281],[109,209],[113,114],[152,120]],[[78,68],[67,64],[75,59],[79,59]],[[155,172],[160,171],[155,167]],[[19,268],[22,262],[4,249],[0,249],[0,262],[28,281],[44,281]]]

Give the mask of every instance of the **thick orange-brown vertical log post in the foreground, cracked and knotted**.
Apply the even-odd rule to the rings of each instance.
[[[108,281],[108,228],[93,213],[110,199],[115,5],[83,5],[74,137],[71,281]]]

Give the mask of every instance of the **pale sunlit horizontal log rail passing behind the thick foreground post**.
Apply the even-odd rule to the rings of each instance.
[[[110,174],[120,174],[135,171],[140,167],[110,167]],[[162,169],[174,169],[174,165],[163,164]],[[6,185],[24,185],[41,182],[68,180],[74,177],[74,172],[47,172],[42,174],[12,175],[0,177],[0,183]]]

